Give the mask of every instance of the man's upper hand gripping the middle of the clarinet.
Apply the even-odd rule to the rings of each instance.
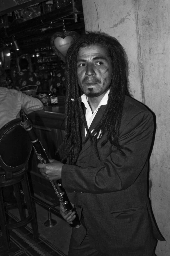
[[[40,168],[41,174],[49,180],[52,179],[61,179],[62,162],[59,162],[54,159],[49,159],[50,163],[38,163],[37,167]]]

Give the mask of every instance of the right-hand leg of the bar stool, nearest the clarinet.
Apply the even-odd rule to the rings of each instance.
[[[31,227],[33,230],[33,236],[34,238],[38,237],[38,227],[37,227],[37,221],[36,221],[36,217],[35,217],[35,212],[34,212],[34,208],[33,208],[33,203],[32,203],[32,199],[31,199],[31,192],[30,192],[30,187],[29,187],[29,183],[28,183],[28,177],[27,174],[24,174],[25,178],[21,181],[22,184],[22,190],[24,193],[24,198],[25,198],[25,202],[27,205],[27,210],[28,210],[28,214],[32,215],[32,220],[31,220]]]

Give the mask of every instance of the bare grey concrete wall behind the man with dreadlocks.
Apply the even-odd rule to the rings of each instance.
[[[87,31],[117,38],[125,48],[134,98],[156,115],[157,130],[150,158],[150,198],[165,237],[157,256],[170,256],[170,1],[82,0]]]

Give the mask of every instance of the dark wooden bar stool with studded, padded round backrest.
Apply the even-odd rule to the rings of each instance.
[[[9,230],[11,229],[31,223],[33,236],[34,238],[38,237],[37,221],[27,178],[32,143],[20,123],[21,119],[17,118],[0,129],[0,228],[7,250],[10,249]],[[17,204],[7,205],[3,199],[3,187],[11,185],[14,188]],[[21,188],[23,193],[21,193]],[[18,208],[21,221],[11,224],[8,223],[6,214],[8,210],[14,208]],[[27,217],[25,208],[28,211]]]

